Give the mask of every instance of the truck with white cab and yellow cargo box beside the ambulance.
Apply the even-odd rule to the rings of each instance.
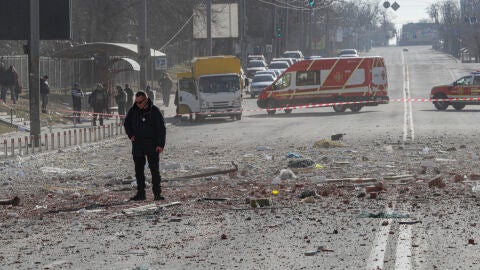
[[[242,118],[243,72],[235,56],[197,57],[192,71],[178,73],[179,113]]]

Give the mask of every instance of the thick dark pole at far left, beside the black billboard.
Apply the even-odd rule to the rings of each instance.
[[[30,38],[28,40],[30,136],[33,146],[40,145],[40,4],[30,0]]]

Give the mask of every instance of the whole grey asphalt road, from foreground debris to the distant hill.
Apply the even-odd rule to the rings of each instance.
[[[391,99],[426,98],[433,85],[450,83],[476,69],[475,64],[459,63],[429,47],[410,47],[407,52],[401,47],[375,48],[369,54],[386,60]],[[240,121],[213,118],[200,123],[175,123],[175,119],[168,117],[173,123],[167,128],[167,146],[161,164],[183,164],[183,167],[169,169],[165,165],[164,179],[172,179],[179,173],[197,173],[212,165],[223,168],[231,160],[239,161],[246,176],[195,180],[191,186],[166,182],[167,202],[178,200],[183,206],[168,210],[171,212],[164,210],[134,218],[118,214],[115,206],[107,207],[105,214],[62,213],[45,215],[43,221],[37,221],[36,215],[31,220],[24,217],[22,211],[28,210],[25,207],[2,208],[0,214],[5,217],[21,219],[0,220],[4,222],[0,226],[0,269],[38,269],[39,265],[52,261],[53,266],[41,268],[480,269],[480,250],[476,244],[480,241],[480,196],[469,183],[450,181],[452,172],[460,176],[476,174],[480,179],[477,169],[480,144],[476,142],[478,109],[467,106],[463,111],[451,108],[437,111],[431,102],[402,101],[364,107],[359,113],[315,108],[269,116],[259,111],[256,100],[246,99]],[[172,111],[169,108],[166,115]],[[313,147],[315,141],[336,133],[345,134],[342,143],[347,148]],[[110,175],[131,174],[131,167],[125,166],[131,162],[129,142],[114,138],[98,146],[98,152],[80,147],[62,151],[58,158],[32,157],[28,159],[32,165],[26,168],[25,164],[25,174],[36,174],[38,168],[45,166],[80,168],[78,161],[82,161],[86,164],[82,166],[88,165],[84,174],[92,174],[88,179],[33,178],[42,185],[71,182],[77,186],[81,182],[102,197],[110,195],[115,201],[122,201],[122,196],[127,198],[130,190],[113,193],[109,191],[112,184],[107,186],[102,181],[111,183],[114,181]],[[270,150],[260,151],[258,146]],[[432,150],[420,155],[425,146]],[[446,151],[451,146],[455,149]],[[299,179],[282,188],[283,184],[274,184],[272,178],[287,163],[288,151],[303,151],[325,166],[322,170],[315,169],[310,176],[298,173]],[[337,163],[337,160],[348,162]],[[421,162],[434,164],[428,166],[427,174],[417,172]],[[11,164],[15,162],[4,164],[5,171],[10,170]],[[297,197],[303,188],[329,189],[326,183],[315,185],[312,178],[317,173],[328,177],[375,177],[374,171],[380,177],[388,173],[410,176],[407,182],[385,180],[388,190],[379,199],[358,196],[362,189],[353,185],[335,186],[312,204],[301,203]],[[444,174],[446,188],[428,185],[430,177],[438,173]],[[4,180],[5,188],[13,185],[13,190],[24,189],[21,180],[16,180],[18,177],[11,178]],[[280,190],[275,198],[277,209],[257,210],[245,204],[246,197],[270,196],[270,190],[277,186]],[[42,192],[39,194],[44,196]],[[235,200],[198,201],[205,196]],[[76,197],[55,193],[45,200],[58,199],[59,204],[67,204],[65,198],[75,202]],[[28,197],[23,198],[31,208],[43,204],[37,202],[38,198],[31,202]],[[52,204],[49,209],[55,206]],[[364,218],[359,216],[363,211],[402,213],[409,218]],[[151,267],[134,268],[139,265]]]

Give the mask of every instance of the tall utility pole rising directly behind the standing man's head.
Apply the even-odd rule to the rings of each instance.
[[[145,90],[147,87],[147,60],[150,56],[150,46],[147,40],[147,0],[140,0],[140,29],[138,36],[138,58],[140,62],[140,89]]]

